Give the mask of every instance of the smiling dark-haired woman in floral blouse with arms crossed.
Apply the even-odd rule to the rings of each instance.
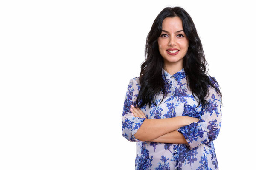
[[[137,142],[136,170],[217,170],[212,141],[221,127],[222,96],[183,8],[158,14],[145,54],[122,112],[122,135]]]

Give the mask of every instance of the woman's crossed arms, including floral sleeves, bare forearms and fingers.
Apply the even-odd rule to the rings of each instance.
[[[146,119],[145,114],[134,107],[138,92],[137,79],[131,79],[122,112],[122,135],[127,140],[186,144],[193,149],[217,138],[221,127],[221,98],[214,88],[209,88],[206,98],[209,103],[198,118]]]

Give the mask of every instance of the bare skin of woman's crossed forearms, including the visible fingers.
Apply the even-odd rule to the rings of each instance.
[[[140,110],[140,108],[135,108],[131,105],[130,111],[135,117],[145,118],[145,114]],[[140,141],[154,141],[154,139],[168,139],[173,136],[175,141],[183,141],[184,136],[179,132],[170,133],[179,129],[180,127],[189,125],[193,122],[198,122],[198,118],[193,118],[189,116],[177,116],[173,118],[166,119],[145,119],[140,128],[134,134],[134,137]],[[164,136],[163,136],[164,135]],[[182,137],[182,138],[179,138]],[[170,139],[171,140],[171,139]],[[154,141],[155,142],[155,141]],[[173,142],[166,142],[173,143]]]

